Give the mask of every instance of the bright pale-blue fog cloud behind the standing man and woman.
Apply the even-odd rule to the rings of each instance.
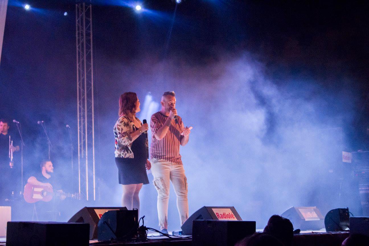
[[[291,206],[316,205],[327,212],[332,207],[352,205],[347,204],[348,197],[339,197],[337,187],[342,184],[336,173],[345,168],[339,166],[345,141],[342,118],[350,117],[340,114],[338,108],[352,107],[349,100],[337,101],[339,95],[312,86],[312,82],[277,84],[265,76],[265,66],[247,53],[222,56],[227,58],[206,66],[191,66],[176,57],[161,62],[142,58],[145,63],[135,62],[128,76],[117,73],[113,79],[117,83],[100,87],[102,95],[113,88],[140,88],[140,100],[148,95],[146,100],[156,102],[152,105],[157,110],[163,91],[176,92],[179,115],[185,125],[193,127],[189,144],[181,147],[190,214],[204,205],[234,206],[243,219],[256,220],[262,227],[270,215]],[[126,71],[129,66],[117,71]],[[133,81],[136,86],[122,85]],[[119,93],[116,90],[104,99],[110,105],[103,105],[106,117],[99,118],[103,126],[101,163],[109,173],[104,181],[113,179],[112,184],[117,174],[110,154],[111,127],[107,126],[117,118]],[[327,110],[332,102],[338,108]],[[149,118],[145,114],[140,118]],[[114,197],[118,205],[121,187],[113,186],[107,198]],[[341,193],[346,188],[347,184],[343,185]],[[156,225],[152,184],[144,186],[141,201],[141,214]],[[179,229],[177,217],[172,190],[169,224]]]

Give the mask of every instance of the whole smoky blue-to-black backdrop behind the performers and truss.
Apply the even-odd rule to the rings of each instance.
[[[28,3],[31,11],[25,11],[23,3],[9,1],[0,63],[0,118],[22,123],[27,172],[37,170],[39,161],[47,156],[44,132],[36,124],[44,120],[53,143],[55,170],[73,183],[75,178],[66,171],[70,143],[65,125],[72,129],[76,149],[75,2]],[[248,209],[236,208],[242,218],[255,219],[261,227],[271,214],[280,214],[296,203],[321,205],[324,212],[352,205],[360,213],[356,200],[337,201],[333,195],[324,195],[327,184],[337,179],[329,180],[321,163],[330,169],[332,162],[341,164],[340,151],[368,150],[368,3],[186,0],[176,7],[169,0],[153,0],[144,1],[149,11],[139,14],[123,3],[93,1],[97,174],[104,187],[101,204],[120,202],[112,158],[119,95],[135,91],[143,101],[151,93],[159,101],[163,91],[174,90],[179,114],[194,126],[189,146],[181,150],[184,162],[196,163],[185,167],[188,177],[193,174],[190,214],[201,204],[217,201],[215,205],[248,204]],[[241,71],[252,76],[239,75]],[[242,115],[249,110],[254,110],[252,117]],[[260,115],[265,124],[255,129]],[[243,125],[245,121],[249,125]],[[17,135],[15,125],[10,126]],[[341,138],[324,130],[334,128],[339,128]],[[255,133],[251,135],[261,142],[260,148],[254,149],[258,143],[251,141],[250,133]],[[323,140],[317,143],[316,139]],[[325,152],[317,146],[324,146]],[[273,162],[275,156],[280,160]],[[322,161],[324,158],[329,161]],[[311,162],[316,166],[309,166]],[[215,166],[221,166],[218,172]],[[239,172],[239,167],[245,170]],[[296,190],[288,188],[285,194],[275,188],[287,187],[282,180],[264,180],[277,167],[286,174],[282,177],[296,184]],[[200,169],[211,170],[211,175],[197,176]],[[301,170],[307,169],[310,176],[302,177]],[[224,177],[228,171],[230,176]],[[247,178],[251,176],[261,178],[232,183],[234,179],[252,180]],[[199,180],[204,184],[218,180],[218,188],[227,195],[217,197],[215,191],[195,195],[196,184],[202,184]],[[317,180],[325,181],[312,187]],[[346,192],[354,194],[356,186],[351,183],[355,181],[347,180]],[[228,189],[222,184],[228,184]],[[337,190],[338,186],[332,186]],[[204,187],[199,193],[211,188]],[[69,189],[73,190],[72,184]],[[233,204],[224,204],[232,191]],[[142,192],[142,211],[155,217],[154,188]],[[281,196],[285,199],[280,200]],[[323,201],[324,197],[329,201]],[[170,207],[170,223],[178,227],[173,202]],[[252,209],[259,212],[252,213]],[[156,222],[152,218],[148,223]]]

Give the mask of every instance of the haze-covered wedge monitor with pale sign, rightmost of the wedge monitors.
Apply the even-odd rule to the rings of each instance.
[[[290,207],[281,216],[289,219],[294,229],[301,231],[324,228],[324,217],[317,207]]]

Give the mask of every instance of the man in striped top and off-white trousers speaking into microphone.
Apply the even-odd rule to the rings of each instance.
[[[188,218],[187,178],[184,174],[179,146],[186,145],[190,129],[184,127],[182,118],[177,115],[174,91],[167,91],[161,99],[162,108],[151,116],[152,141],[150,147],[151,170],[154,186],[158,191],[159,226],[168,233],[168,201],[170,181],[177,195],[177,208],[180,223]]]

